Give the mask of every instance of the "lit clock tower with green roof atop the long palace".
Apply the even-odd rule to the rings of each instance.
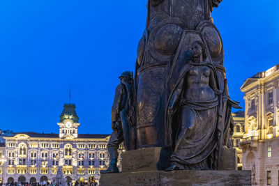
[[[64,104],[60,116],[59,137],[63,139],[76,139],[77,128],[80,127],[79,117],[75,111],[75,104]]]

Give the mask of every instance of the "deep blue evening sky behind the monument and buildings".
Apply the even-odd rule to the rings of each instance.
[[[135,69],[146,0],[1,0],[0,129],[58,133],[68,102],[79,133],[111,132],[114,89]],[[233,100],[243,82],[279,63],[279,1],[224,0],[213,19]]]

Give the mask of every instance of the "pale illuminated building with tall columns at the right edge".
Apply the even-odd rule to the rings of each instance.
[[[279,185],[279,65],[246,79],[245,133],[241,139],[243,170],[252,185]]]

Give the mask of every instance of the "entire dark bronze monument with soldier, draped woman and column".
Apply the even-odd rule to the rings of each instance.
[[[232,148],[224,50],[211,12],[221,0],[149,0],[135,76],[119,77],[112,107],[110,166],[117,149],[168,148],[163,170],[216,170]]]

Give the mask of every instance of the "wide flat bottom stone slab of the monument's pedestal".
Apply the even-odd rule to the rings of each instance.
[[[108,173],[100,177],[101,186],[248,186],[251,171],[139,171]]]

